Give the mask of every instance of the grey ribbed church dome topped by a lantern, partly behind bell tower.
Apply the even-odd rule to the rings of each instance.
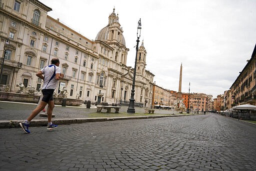
[[[118,18],[118,14],[116,15],[113,9],[113,12],[108,17],[108,24],[97,33],[95,40],[110,40],[109,32],[112,27],[117,27],[122,32]],[[119,43],[125,46],[125,39],[122,34]]]

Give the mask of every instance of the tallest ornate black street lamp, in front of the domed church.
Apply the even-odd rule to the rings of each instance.
[[[139,30],[139,34],[138,34]],[[130,101],[129,101],[129,106],[127,109],[127,113],[135,113],[135,108],[134,108],[134,88],[135,88],[135,77],[136,77],[136,65],[137,65],[137,53],[138,53],[138,42],[139,42],[139,37],[140,37],[140,30],[141,30],[141,22],[140,18],[138,20],[138,27],[137,27],[137,45],[136,45],[136,56],[135,56],[135,64],[134,64],[134,70],[133,70],[133,79],[132,79],[132,87],[131,87],[131,93],[130,93]]]

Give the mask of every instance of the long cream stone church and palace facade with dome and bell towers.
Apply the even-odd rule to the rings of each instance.
[[[128,104],[133,68],[126,65],[129,49],[114,9],[95,40],[48,16],[50,10],[38,0],[0,1],[1,63],[6,51],[0,84],[8,84],[10,92],[18,90],[19,82],[39,90],[43,82],[35,73],[58,57],[64,78],[55,93],[65,87],[67,98]],[[135,104],[151,107],[154,74],[145,68],[143,41],[137,56]]]

